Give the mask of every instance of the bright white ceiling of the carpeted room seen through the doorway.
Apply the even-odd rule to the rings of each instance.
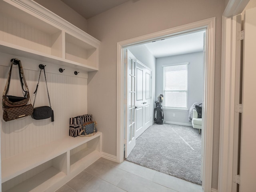
[[[184,34],[145,44],[155,58],[203,51],[204,32]]]

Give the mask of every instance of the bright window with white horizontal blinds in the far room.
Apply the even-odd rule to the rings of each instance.
[[[188,63],[163,66],[164,108],[187,109]]]

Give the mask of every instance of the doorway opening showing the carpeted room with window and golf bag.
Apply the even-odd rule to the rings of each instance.
[[[202,118],[193,105],[202,105],[204,98],[204,35],[205,30],[199,30],[131,46],[124,58],[128,68],[125,159],[196,184],[202,184]],[[138,60],[152,67],[152,83],[151,73],[144,72],[147,66],[141,67]],[[156,88],[146,87],[151,84]],[[164,95],[164,125],[154,124],[159,94]]]

